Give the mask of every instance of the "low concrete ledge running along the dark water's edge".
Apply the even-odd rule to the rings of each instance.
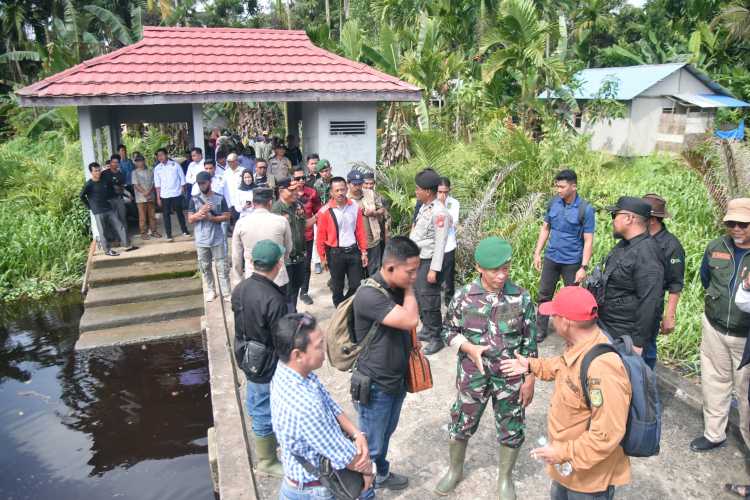
[[[209,461],[214,490],[221,500],[257,500],[243,400],[237,390],[240,381],[232,351],[234,318],[220,294],[205,306],[204,339],[214,419],[214,426],[209,429]]]

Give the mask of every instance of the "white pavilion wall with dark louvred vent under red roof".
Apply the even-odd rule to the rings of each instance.
[[[305,102],[302,104],[305,154],[318,153],[331,162],[334,175],[346,175],[356,162],[375,168],[377,103]],[[331,121],[364,121],[363,135],[330,135]]]

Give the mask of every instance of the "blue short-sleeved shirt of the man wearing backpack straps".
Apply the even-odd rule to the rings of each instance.
[[[544,256],[558,264],[580,264],[583,260],[583,234],[593,234],[596,227],[594,208],[586,206],[583,213],[583,231],[578,221],[578,206],[581,198],[576,195],[573,203],[566,204],[555,196],[544,215],[544,222],[550,225],[549,243]]]

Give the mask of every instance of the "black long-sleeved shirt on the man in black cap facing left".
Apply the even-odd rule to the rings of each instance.
[[[656,335],[664,301],[664,257],[648,232],[620,240],[604,265],[599,324],[613,337],[642,347]]]

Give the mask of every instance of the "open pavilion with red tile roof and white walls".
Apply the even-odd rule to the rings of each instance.
[[[313,45],[304,31],[145,27],[143,39],[17,92],[22,106],[76,106],[86,165],[109,157],[123,123],[187,123],[202,147],[203,105],[284,102],[287,133],[345,174],[375,166],[377,103],[420,90]],[[301,134],[300,134],[301,131]]]

